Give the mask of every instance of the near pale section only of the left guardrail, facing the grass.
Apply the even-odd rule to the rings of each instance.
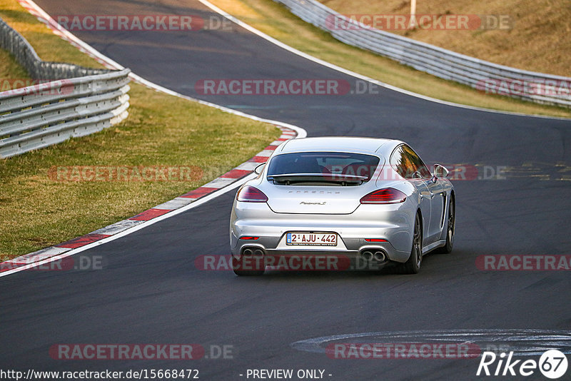
[[[128,116],[129,69],[0,93],[0,158],[101,131]]]

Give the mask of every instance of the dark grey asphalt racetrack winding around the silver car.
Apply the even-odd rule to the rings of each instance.
[[[197,1],[40,0],[59,14],[213,14]],[[202,96],[205,78],[354,79],[231,31],[74,31],[101,53],[167,88],[308,136],[377,136],[410,143],[428,163],[571,163],[571,121],[445,106],[385,88],[345,96]],[[547,169],[545,170],[547,171]],[[103,270],[23,271],[0,280],[0,368],[128,370],[194,367],[202,380],[245,380],[253,368],[325,369],[329,380],[473,380],[472,360],[334,360],[293,342],[356,332],[571,328],[565,271],[483,272],[482,254],[571,250],[566,181],[456,181],[451,255],[429,255],[418,275],[277,273],[238,278],[194,258],[228,254],[233,192],[98,246]],[[53,360],[57,343],[233,345],[233,359]],[[544,379],[536,375],[528,379]]]

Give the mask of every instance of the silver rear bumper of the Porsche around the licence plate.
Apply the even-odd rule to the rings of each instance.
[[[363,250],[383,250],[389,260],[404,263],[413,243],[411,221],[416,213],[407,203],[360,205],[350,215],[274,213],[266,203],[241,205],[235,201],[231,215],[232,254],[239,258],[244,248],[261,248],[265,255],[345,255],[358,258]],[[286,245],[289,232],[328,232],[338,235],[337,246]],[[243,240],[241,237],[258,237]],[[367,242],[377,238],[386,242]]]

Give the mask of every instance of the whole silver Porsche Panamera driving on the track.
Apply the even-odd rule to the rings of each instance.
[[[302,138],[283,143],[234,199],[233,270],[380,269],[418,273],[423,255],[450,253],[455,193],[403,141]],[[345,266],[343,263],[349,263]]]

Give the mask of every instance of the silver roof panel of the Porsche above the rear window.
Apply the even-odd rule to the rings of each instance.
[[[381,138],[325,136],[320,138],[292,139],[283,143],[276,153],[344,151],[388,156],[400,144],[403,144],[403,141]]]

